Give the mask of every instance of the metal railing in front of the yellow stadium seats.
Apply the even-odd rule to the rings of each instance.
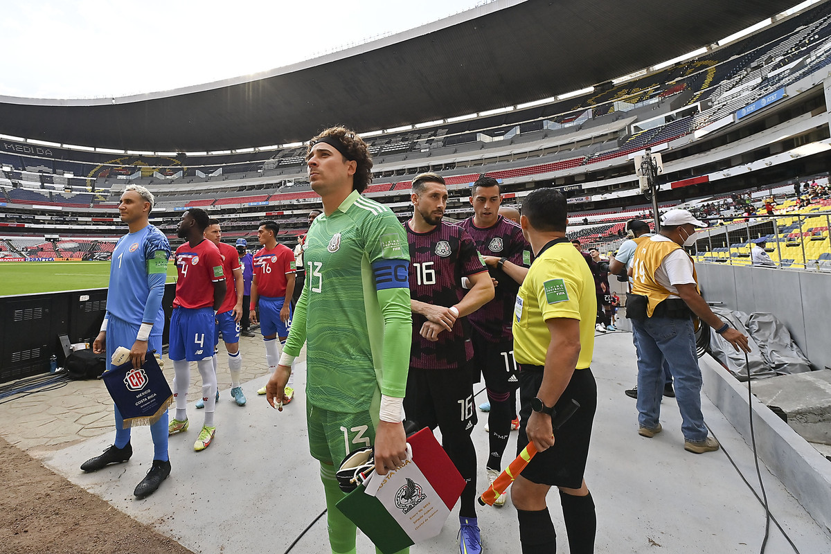
[[[729,223],[711,218],[708,223],[716,221],[723,224],[701,231],[689,249],[698,262],[831,272],[831,211],[755,215]],[[752,261],[753,241],[759,238],[767,239],[765,252],[771,262]]]

